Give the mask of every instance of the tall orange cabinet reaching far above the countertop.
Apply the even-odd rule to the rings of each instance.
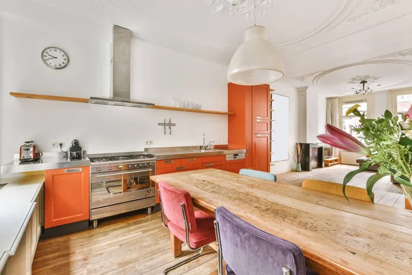
[[[228,84],[229,148],[246,148],[245,167],[269,172],[271,112],[269,85]]]

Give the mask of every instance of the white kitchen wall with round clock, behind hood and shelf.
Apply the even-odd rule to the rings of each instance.
[[[0,12],[0,163],[12,160],[25,140],[41,151],[77,138],[88,153],[141,151],[153,146],[199,145],[202,134],[217,144],[227,138],[227,116],[45,100],[18,99],[10,91],[57,96],[109,95],[111,25],[32,4],[21,14]],[[56,45],[70,57],[53,70],[41,61]],[[139,39],[132,43],[132,98],[170,105],[172,94],[227,110],[227,67]],[[176,123],[172,135],[157,126]]]

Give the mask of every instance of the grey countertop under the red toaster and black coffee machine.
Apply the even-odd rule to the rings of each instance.
[[[90,160],[88,157],[72,160],[67,157],[42,157],[34,162],[20,162],[19,159],[14,159],[14,161],[1,166],[1,174],[24,173],[89,165]]]

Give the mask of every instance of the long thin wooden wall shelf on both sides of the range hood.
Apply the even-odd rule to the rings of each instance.
[[[47,96],[47,95],[39,95],[39,94],[16,93],[16,92],[10,92],[10,96],[14,96],[14,98],[31,98],[31,99],[56,100],[56,101],[78,102],[78,103],[89,102],[89,98],[70,98],[67,96]],[[214,115],[234,115],[235,114],[233,112],[185,109],[185,108],[169,107],[169,106],[161,106],[161,105],[155,105],[152,107],[148,107],[148,109],[159,109],[159,110],[167,110],[167,111],[185,111],[185,112],[192,112],[192,113],[209,113],[209,114],[214,114]]]

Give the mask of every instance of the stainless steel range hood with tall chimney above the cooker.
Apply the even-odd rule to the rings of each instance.
[[[111,56],[111,96],[91,97],[89,103],[146,108],[155,104],[130,99],[130,40],[132,32],[113,26]]]

